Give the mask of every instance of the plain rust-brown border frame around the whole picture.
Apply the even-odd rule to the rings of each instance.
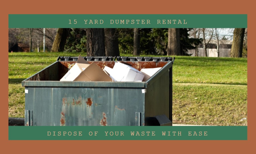
[[[186,6],[185,6],[186,5]],[[1,118],[3,119],[1,131],[1,150],[5,152],[96,152],[96,153],[123,153],[123,152],[189,152],[189,153],[215,153],[235,152],[245,153],[254,151],[255,137],[255,97],[253,88],[255,81],[252,58],[254,51],[248,54],[248,140],[247,141],[9,141],[8,140],[8,14],[248,14],[248,47],[253,46],[255,38],[254,5],[247,0],[243,2],[228,1],[8,1],[1,2],[1,24],[3,29],[0,37],[2,50],[1,75]],[[44,9],[45,8],[45,9]],[[218,22],[218,21],[216,21]],[[239,21],[238,21],[239,22]],[[239,133],[239,132],[237,132]],[[235,134],[234,134],[235,135]],[[249,152],[250,153],[250,152]]]

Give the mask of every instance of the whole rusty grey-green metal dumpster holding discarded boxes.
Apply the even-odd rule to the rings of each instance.
[[[58,57],[56,62],[22,81],[22,86],[25,87],[25,125],[172,125],[174,59],[120,56]],[[90,67],[82,68],[85,65],[80,64],[82,61],[87,61],[86,65]],[[137,71],[147,68],[159,69],[146,81],[112,81],[114,78],[109,81],[111,74],[108,74],[106,80],[106,68],[112,70],[117,64],[129,65]],[[79,80],[80,74],[74,81],[65,81],[69,72],[75,70],[75,65],[77,68],[80,66],[81,70],[78,71],[81,74],[87,71],[88,79]],[[72,66],[74,68],[71,68]],[[101,68],[100,71],[104,69],[105,72],[97,74],[96,67]],[[92,76],[104,79],[92,81]]]

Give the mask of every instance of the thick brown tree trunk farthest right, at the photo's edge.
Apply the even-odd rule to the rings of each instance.
[[[235,28],[230,57],[242,57],[244,35],[244,28]]]

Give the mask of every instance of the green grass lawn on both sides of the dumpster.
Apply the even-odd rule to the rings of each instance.
[[[64,52],[9,53],[9,117],[24,117],[25,88],[21,81],[52,64],[58,56],[79,54],[86,56]],[[174,124],[247,125],[247,59],[175,58]]]

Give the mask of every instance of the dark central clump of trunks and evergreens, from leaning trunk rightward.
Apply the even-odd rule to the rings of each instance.
[[[189,38],[191,30],[60,28],[51,52],[86,51],[88,56],[118,56],[120,51],[133,55],[188,55],[188,50],[202,43],[200,38]]]

